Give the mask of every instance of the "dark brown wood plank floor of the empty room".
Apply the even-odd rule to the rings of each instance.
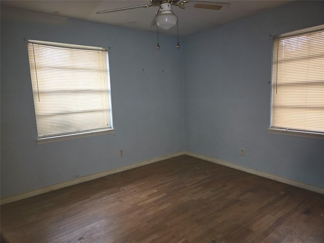
[[[1,231],[10,243],[323,243],[324,195],[183,155],[4,205]]]

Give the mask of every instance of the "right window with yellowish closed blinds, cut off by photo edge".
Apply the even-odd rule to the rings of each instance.
[[[324,25],[274,38],[271,130],[324,138]]]

